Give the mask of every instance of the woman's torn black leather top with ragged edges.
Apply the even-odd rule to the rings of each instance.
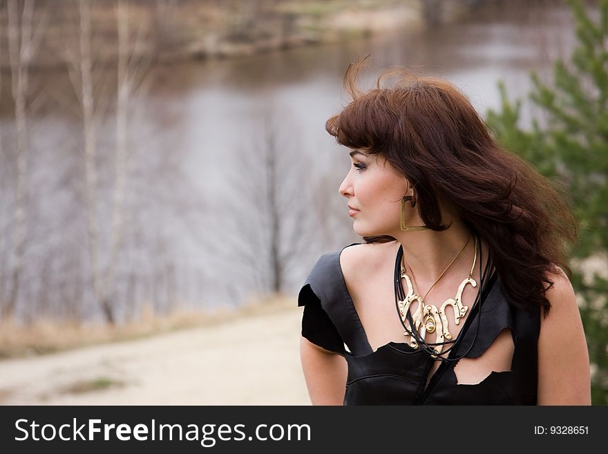
[[[515,346],[511,370],[491,372],[479,384],[457,384],[457,361],[450,361],[441,363],[426,386],[435,361],[428,354],[395,342],[372,350],[346,288],[340,253],[319,258],[300,290],[298,306],[304,306],[303,337],[341,354],[348,363],[344,405],[536,404],[540,310],[509,304],[496,273],[484,281],[448,358],[480,357],[502,330],[509,329]]]

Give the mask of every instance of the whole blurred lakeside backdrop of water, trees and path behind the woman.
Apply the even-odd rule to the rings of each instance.
[[[604,0],[0,0],[0,404],[308,404],[296,295],[361,240],[325,120],[368,54],[567,187],[607,404],[607,36]]]

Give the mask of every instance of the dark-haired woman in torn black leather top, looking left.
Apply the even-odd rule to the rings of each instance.
[[[590,404],[566,200],[448,82],[386,69],[361,92],[363,62],[326,129],[365,243],[321,256],[298,296],[312,404]]]

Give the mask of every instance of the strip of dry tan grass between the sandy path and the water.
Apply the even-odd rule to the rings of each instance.
[[[243,317],[295,308],[296,302],[293,298],[279,296],[263,301],[251,301],[236,310],[179,310],[165,316],[144,310],[139,321],[120,325],[54,321],[19,325],[12,321],[3,321],[0,323],[0,359],[30,357],[99,343],[140,339],[162,332],[213,326]]]

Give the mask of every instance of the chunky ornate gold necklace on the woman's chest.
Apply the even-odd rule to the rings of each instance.
[[[468,244],[468,241],[471,240],[471,234],[469,234],[468,238],[466,239],[466,243],[464,243],[464,246],[462,247],[462,249],[460,249],[460,252],[455,256],[455,258],[453,258],[453,260],[446,267],[446,269],[444,269],[444,271],[439,274],[439,277],[435,279],[433,285],[431,285],[426,294],[424,294],[424,298],[421,298],[419,294],[414,292],[414,288],[412,287],[412,281],[410,280],[410,277],[406,274],[405,261],[403,260],[403,256],[401,257],[401,278],[404,278],[406,280],[406,285],[408,287],[408,294],[406,295],[406,298],[403,301],[399,301],[398,303],[401,321],[403,321],[403,323],[406,322],[407,314],[410,310],[410,305],[414,301],[418,301],[418,306],[415,312],[412,314],[412,321],[414,323],[414,326],[412,327],[410,325],[410,330],[415,329],[416,331],[419,331],[421,328],[420,335],[422,339],[424,339],[427,332],[435,332],[435,330],[437,330],[437,340],[435,343],[439,343],[439,345],[435,346],[434,348],[435,354],[439,354],[441,353],[441,350],[443,350],[444,346],[442,343],[444,343],[444,339],[446,341],[452,340],[452,334],[450,334],[450,331],[448,330],[446,307],[448,305],[452,306],[454,310],[454,322],[458,325],[460,323],[460,319],[464,317],[466,311],[468,310],[468,306],[462,305],[462,292],[464,291],[464,287],[466,287],[467,284],[471,284],[473,287],[477,287],[477,282],[475,282],[475,279],[471,277],[473,276],[473,269],[475,269],[475,263],[477,262],[477,237],[474,237],[474,239],[475,256],[473,257],[473,265],[471,265],[471,272],[469,272],[468,276],[462,281],[462,283],[460,283],[455,298],[450,298],[444,301],[439,310],[437,310],[437,306],[433,304],[424,303],[424,298],[426,298],[428,292],[430,292],[430,289],[433,288],[433,286],[439,281],[441,276],[446,273],[448,268],[452,266],[452,264],[460,256],[460,254],[462,254],[462,251],[464,251],[466,245]],[[412,277],[413,276],[414,274],[412,272]],[[423,321],[424,323],[422,323]],[[403,332],[403,335],[409,336],[410,332],[411,331],[406,330]],[[410,346],[412,348],[418,348],[418,343],[413,337],[410,340]],[[433,355],[433,358],[436,358],[436,356]]]

